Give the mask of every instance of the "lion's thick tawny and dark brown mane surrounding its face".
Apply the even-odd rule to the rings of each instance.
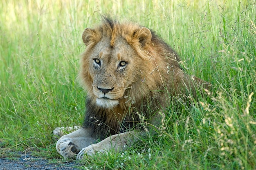
[[[85,29],[82,38],[87,46],[79,73],[87,91],[84,126],[92,128],[98,137],[106,138],[134,127],[140,121],[137,113],[151,119],[157,110],[170,104],[170,97],[178,94],[195,97],[196,86],[202,85],[202,80],[182,71],[179,56],[168,44],[154,31],[139,24],[103,17],[99,26]],[[125,40],[136,53],[132,83],[120,97],[119,104],[112,108],[97,105],[92,89],[94,77],[89,70],[89,56],[95,53],[94,46],[105,39],[110,46],[115,46],[120,39]]]

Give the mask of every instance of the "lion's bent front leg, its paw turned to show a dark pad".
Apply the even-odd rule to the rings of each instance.
[[[56,149],[65,159],[75,158],[82,148],[95,143],[96,139],[91,135],[92,130],[90,128],[78,129],[58,139]]]

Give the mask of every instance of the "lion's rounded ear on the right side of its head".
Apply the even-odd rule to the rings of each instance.
[[[134,31],[133,38],[139,40],[141,46],[144,47],[151,42],[152,34],[148,28],[141,27]]]

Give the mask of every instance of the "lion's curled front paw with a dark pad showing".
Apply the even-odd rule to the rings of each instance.
[[[72,142],[72,139],[63,138],[57,141],[57,151],[65,158],[74,158],[79,153],[79,148]]]

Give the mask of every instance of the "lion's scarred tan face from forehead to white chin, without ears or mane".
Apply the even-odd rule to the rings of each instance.
[[[125,91],[134,82],[137,68],[135,51],[125,40],[117,40],[110,46],[110,40],[101,39],[92,49],[89,59],[89,72],[93,79],[93,94],[96,103],[105,108],[119,104]]]

